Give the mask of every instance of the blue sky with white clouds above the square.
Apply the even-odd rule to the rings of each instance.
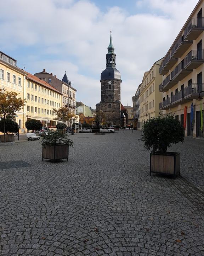
[[[164,57],[198,0],[7,0],[1,4],[0,50],[29,73],[66,71],[77,101],[95,108],[112,30],[121,103]],[[11,8],[12,6],[12,8]]]

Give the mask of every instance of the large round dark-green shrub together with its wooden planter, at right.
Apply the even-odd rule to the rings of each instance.
[[[180,153],[167,152],[171,143],[184,141],[183,127],[171,112],[148,119],[143,124],[141,140],[146,150],[151,150],[149,175],[152,172],[173,175],[180,174]]]

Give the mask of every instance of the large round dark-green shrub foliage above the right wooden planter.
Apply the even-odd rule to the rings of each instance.
[[[152,149],[152,153],[166,153],[171,143],[184,142],[183,126],[171,112],[163,115],[160,111],[158,117],[150,118],[143,124],[142,131],[140,140],[144,142],[146,150]]]

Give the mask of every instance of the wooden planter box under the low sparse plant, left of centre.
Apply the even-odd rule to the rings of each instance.
[[[56,160],[67,159],[69,160],[69,145],[55,144],[42,146],[42,161],[44,159]]]

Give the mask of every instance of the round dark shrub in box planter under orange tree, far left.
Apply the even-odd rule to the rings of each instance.
[[[16,122],[6,119],[5,120],[5,133],[0,135],[1,142],[14,142],[14,134],[8,134],[8,133],[18,133],[19,132],[19,126]],[[0,132],[4,132],[4,120],[0,120]],[[4,138],[6,138],[6,141],[4,141]]]

